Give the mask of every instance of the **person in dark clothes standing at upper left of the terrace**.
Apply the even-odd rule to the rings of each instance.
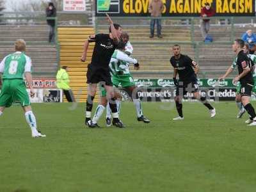
[[[56,8],[53,3],[49,3],[45,10],[46,17],[56,17]],[[47,19],[47,24],[49,26],[49,43],[54,42],[55,37],[55,20]]]

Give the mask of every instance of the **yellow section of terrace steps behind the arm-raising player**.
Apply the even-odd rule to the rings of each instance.
[[[92,59],[93,44],[90,44],[86,62],[81,62],[84,40],[94,34],[93,28],[58,28],[60,42],[60,65],[69,68],[70,86],[77,101],[84,102],[87,92],[86,71]]]

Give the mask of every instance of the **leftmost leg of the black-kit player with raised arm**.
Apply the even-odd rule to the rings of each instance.
[[[93,99],[95,98],[97,92],[97,83],[88,84],[88,96],[86,99],[86,111],[85,111],[85,125],[91,120]]]

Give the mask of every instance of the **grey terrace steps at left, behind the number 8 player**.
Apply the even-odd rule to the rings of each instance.
[[[55,77],[58,68],[56,46],[49,44],[46,25],[38,26],[1,26],[0,58],[14,51],[13,42],[23,38],[27,42],[26,53],[33,62],[34,77]]]

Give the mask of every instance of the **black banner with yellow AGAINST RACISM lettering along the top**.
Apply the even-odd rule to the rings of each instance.
[[[162,0],[163,17],[196,17],[201,8],[210,3],[215,16],[255,16],[254,0]],[[96,0],[96,16],[109,13],[116,17],[150,16],[150,0]]]

